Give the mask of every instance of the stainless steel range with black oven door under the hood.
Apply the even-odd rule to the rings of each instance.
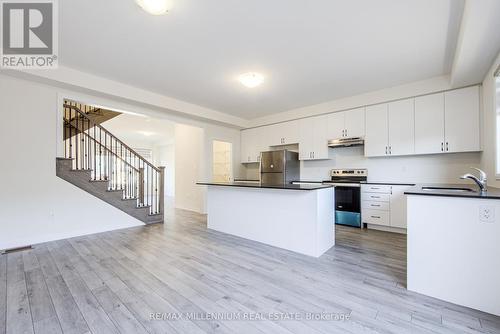
[[[330,180],[335,186],[335,223],[361,227],[361,182],[368,178],[366,169],[332,169]]]

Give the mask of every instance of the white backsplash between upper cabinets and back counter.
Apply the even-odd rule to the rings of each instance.
[[[367,168],[371,182],[463,183],[459,176],[479,167],[481,156],[471,152],[366,158],[363,150],[363,146],[334,148],[329,149],[330,160],[302,161],[301,180],[327,180],[333,168]],[[247,178],[259,178],[258,164],[244,169]]]

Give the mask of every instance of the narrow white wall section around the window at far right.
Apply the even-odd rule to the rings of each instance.
[[[500,65],[500,54],[492,64],[483,81],[483,154],[481,156],[481,167],[488,174],[488,184],[500,187],[500,180],[496,180],[496,149],[498,145],[496,126],[496,84],[493,77],[494,71]]]

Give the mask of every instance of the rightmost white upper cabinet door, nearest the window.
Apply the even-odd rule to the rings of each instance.
[[[479,151],[479,87],[444,93],[444,135],[447,152]]]

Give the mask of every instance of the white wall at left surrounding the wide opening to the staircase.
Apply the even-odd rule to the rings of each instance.
[[[235,170],[239,169],[240,132],[236,128],[191,120],[109,95],[88,95],[0,74],[0,153],[4,157],[0,164],[0,249],[142,225],[56,177],[55,158],[62,152],[62,113],[58,109],[63,98],[199,126],[205,129],[202,150],[208,166],[200,179],[208,180],[211,175],[212,138],[233,144],[238,157]],[[204,211],[205,204],[201,207]]]

